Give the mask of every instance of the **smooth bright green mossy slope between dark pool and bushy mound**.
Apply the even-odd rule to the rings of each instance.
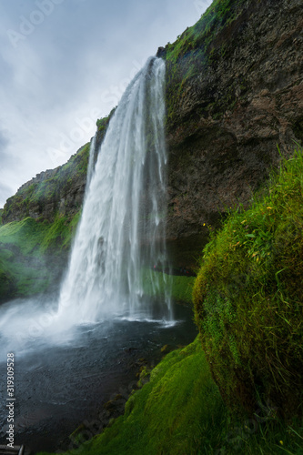
[[[152,370],[150,382],[128,399],[124,416],[79,453],[211,453],[219,440],[211,429],[220,427],[224,410],[197,339],[187,348],[167,354]]]

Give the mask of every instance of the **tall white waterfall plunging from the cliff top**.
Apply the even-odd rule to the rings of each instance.
[[[146,288],[156,294],[159,278],[167,280],[164,84],[164,61],[149,58],[110,120],[95,170],[96,140],[92,144],[85,203],[61,288],[59,317],[94,321],[108,312],[146,310]],[[169,290],[167,308],[168,294]]]

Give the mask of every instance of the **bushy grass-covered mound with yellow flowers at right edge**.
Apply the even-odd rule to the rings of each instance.
[[[302,415],[302,150],[263,193],[232,210],[204,249],[196,321],[229,407],[252,413],[261,397],[291,420]]]

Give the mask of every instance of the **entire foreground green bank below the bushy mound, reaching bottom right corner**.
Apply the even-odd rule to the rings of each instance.
[[[146,370],[139,382],[144,380]],[[227,410],[199,338],[167,354],[152,370],[150,381],[128,399],[124,415],[87,441],[94,425],[98,422],[84,422],[71,435],[66,455],[302,453],[299,424],[279,423],[268,404],[260,402],[250,420],[237,420]]]

